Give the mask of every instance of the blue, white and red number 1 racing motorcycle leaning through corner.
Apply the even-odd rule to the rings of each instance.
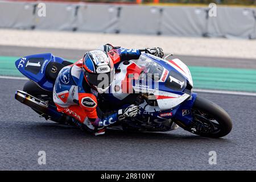
[[[161,59],[142,53],[140,59],[115,65],[115,79],[108,92],[99,94],[98,105],[105,113],[139,105],[134,118],[110,125],[125,131],[171,131],[178,127],[202,137],[220,138],[232,130],[229,114],[193,92],[187,65],[168,55]],[[15,99],[31,107],[40,117],[73,125],[73,118],[56,110],[53,85],[60,70],[73,63],[51,53],[22,57],[16,68],[29,81],[16,90]],[[114,103],[114,104],[113,104]]]

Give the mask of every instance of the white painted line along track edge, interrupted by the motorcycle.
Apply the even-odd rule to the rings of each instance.
[[[11,80],[28,80],[26,77],[13,77],[13,76],[0,76],[3,79],[11,79]],[[239,91],[229,91],[229,90],[208,90],[208,89],[193,89],[195,92],[203,92],[203,93],[218,93],[218,94],[229,94],[229,95],[240,95],[240,96],[256,96],[254,92],[239,92]]]

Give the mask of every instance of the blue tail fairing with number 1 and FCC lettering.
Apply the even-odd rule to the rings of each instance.
[[[61,57],[53,56],[51,53],[43,53],[38,55],[30,55],[22,57],[15,61],[16,68],[24,76],[36,82],[41,88],[52,91],[55,80],[47,77],[46,70],[49,63],[54,62],[56,66],[52,66],[48,75],[58,73],[61,67],[58,64],[63,63]]]

